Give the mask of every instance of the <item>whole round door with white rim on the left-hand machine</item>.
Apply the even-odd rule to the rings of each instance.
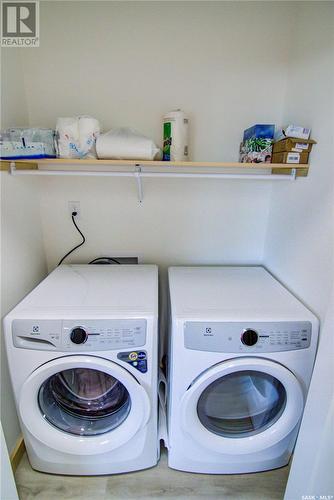
[[[22,387],[20,417],[39,441],[72,454],[104,453],[146,423],[150,401],[125,368],[93,356],[67,356],[35,370]]]

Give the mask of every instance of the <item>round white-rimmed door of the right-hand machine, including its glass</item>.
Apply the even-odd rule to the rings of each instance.
[[[287,368],[239,358],[215,365],[191,384],[181,400],[182,428],[213,451],[253,453],[287,436],[303,407],[302,388]]]

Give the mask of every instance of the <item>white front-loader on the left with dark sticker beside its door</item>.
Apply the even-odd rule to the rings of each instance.
[[[32,467],[74,475],[157,463],[158,270],[62,265],[4,319]]]

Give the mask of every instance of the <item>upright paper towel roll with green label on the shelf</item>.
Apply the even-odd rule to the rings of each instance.
[[[189,160],[189,120],[180,109],[171,111],[163,118],[163,159],[166,161]]]

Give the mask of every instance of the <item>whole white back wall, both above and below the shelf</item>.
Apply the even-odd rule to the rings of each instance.
[[[88,113],[161,144],[161,118],[191,117],[196,160],[236,160],[242,131],[282,119],[294,5],[263,2],[43,2],[41,46],[27,49],[31,125]],[[275,19],[275,23],[273,23]],[[251,29],[250,29],[251,26]],[[72,261],[134,254],[163,266],[260,262],[270,183],[45,181],[49,269],[76,241],[67,202],[81,202],[87,244]],[[101,230],[101,221],[103,229]]]

